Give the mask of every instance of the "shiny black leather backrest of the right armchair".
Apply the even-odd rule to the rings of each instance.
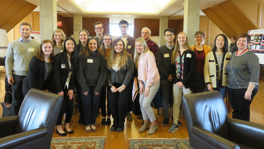
[[[228,118],[225,102],[219,91],[207,91],[182,96],[188,134],[193,137],[192,126],[229,139],[226,120]]]

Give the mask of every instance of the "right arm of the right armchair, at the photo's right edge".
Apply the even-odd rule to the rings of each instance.
[[[264,125],[228,118],[227,126],[231,141],[257,149],[264,147]]]

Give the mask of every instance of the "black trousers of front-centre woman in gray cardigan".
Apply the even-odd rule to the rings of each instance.
[[[112,92],[108,86],[109,107],[114,119],[114,124],[124,124],[128,112],[128,106],[132,102],[133,79],[122,92]],[[122,83],[113,83],[118,88]]]

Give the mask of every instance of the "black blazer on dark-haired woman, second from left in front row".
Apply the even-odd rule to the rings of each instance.
[[[68,61],[64,62],[63,59],[64,54],[65,54],[64,51],[56,54],[53,63],[53,77],[57,92],[61,92],[63,90],[69,76],[69,71],[65,66],[65,63],[68,63]],[[62,65],[64,65],[65,67],[63,67]],[[68,89],[74,90],[75,83],[76,83],[76,77],[75,77],[75,71],[73,71]]]

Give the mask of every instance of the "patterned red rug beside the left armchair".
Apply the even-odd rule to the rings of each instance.
[[[52,138],[50,149],[104,149],[105,138],[72,137]]]

